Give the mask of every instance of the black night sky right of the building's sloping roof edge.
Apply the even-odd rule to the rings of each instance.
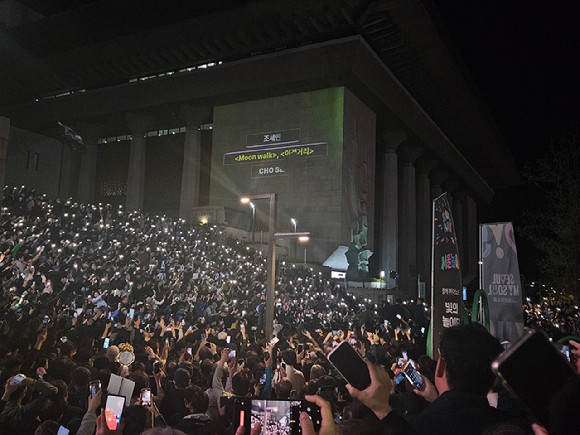
[[[580,120],[580,0],[433,0],[518,166]],[[524,185],[497,192],[480,222],[513,221],[520,271],[538,278],[541,254],[524,237],[526,213],[544,206]]]

